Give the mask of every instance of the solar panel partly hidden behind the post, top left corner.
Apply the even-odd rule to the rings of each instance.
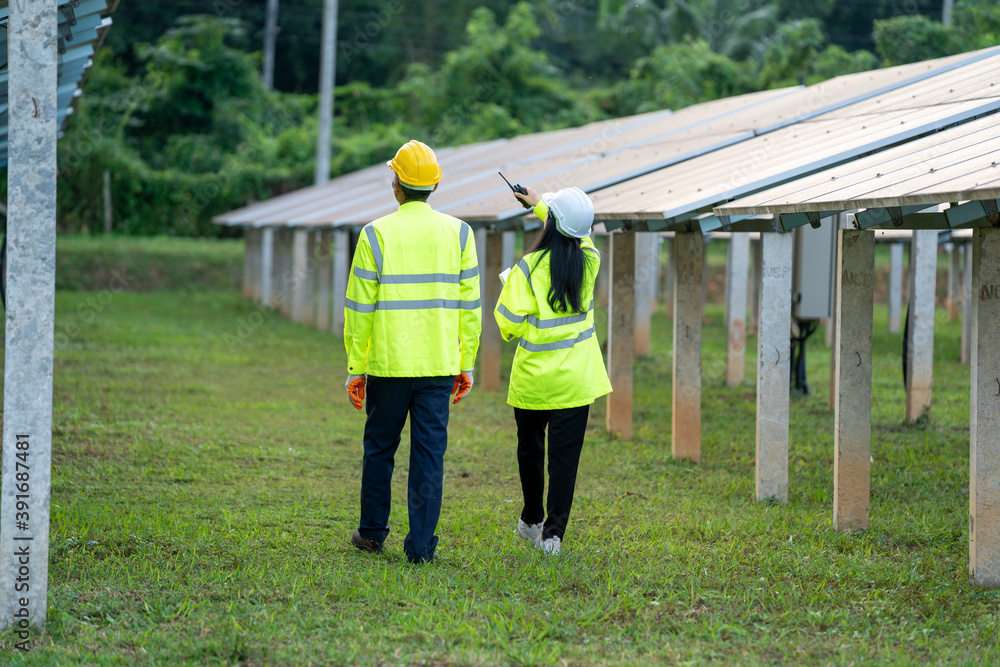
[[[118,0],[61,0],[59,2],[59,92],[57,121],[62,128],[73,112],[73,100],[93,61]],[[0,25],[6,27],[9,2],[0,0]],[[0,166],[7,164],[7,31],[0,32]]]

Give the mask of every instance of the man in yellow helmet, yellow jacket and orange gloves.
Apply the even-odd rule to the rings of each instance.
[[[399,209],[362,231],[344,313],[347,393],[359,410],[367,395],[361,521],[351,542],[382,553],[393,460],[409,415],[403,550],[422,563],[438,542],[449,396],[458,403],[472,389],[482,330],[479,265],[469,225],[427,204],[441,181],[434,151],[410,141],[386,164]]]

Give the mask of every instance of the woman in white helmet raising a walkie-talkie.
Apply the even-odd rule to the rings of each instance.
[[[611,391],[594,334],[601,256],[589,238],[594,205],[582,190],[539,197],[527,188],[515,196],[545,221],[539,239],[509,272],[494,311],[504,340],[520,339],[507,395],[524,493],[517,534],[556,555],[573,504],[590,405]],[[546,427],[549,493],[543,509]]]

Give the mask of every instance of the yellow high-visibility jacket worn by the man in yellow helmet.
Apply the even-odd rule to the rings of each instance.
[[[347,370],[433,377],[472,370],[482,331],[469,225],[407,202],[365,225],[344,309]]]

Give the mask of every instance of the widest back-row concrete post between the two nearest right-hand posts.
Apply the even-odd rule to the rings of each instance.
[[[910,329],[907,343],[906,421],[915,422],[930,410],[934,375],[934,287],[937,278],[937,236],[933,229],[913,232]]]

